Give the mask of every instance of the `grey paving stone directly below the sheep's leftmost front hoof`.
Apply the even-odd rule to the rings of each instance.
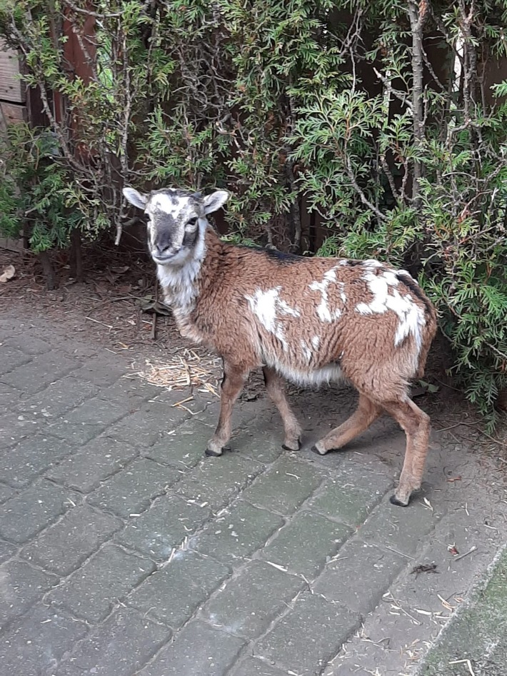
[[[199,467],[179,482],[176,492],[217,509],[230,503],[263,468],[261,463],[246,460],[236,453],[205,458]]]

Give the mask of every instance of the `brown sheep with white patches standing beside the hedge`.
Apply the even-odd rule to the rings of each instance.
[[[283,448],[299,450],[301,426],[283,378],[302,386],[345,378],[358,390],[356,412],[312,447],[342,448],[381,414],[406,433],[406,453],[391,503],[408,505],[421,486],[430,420],[408,395],[423,375],[436,312],[403,270],[373,260],[302,257],[221,241],[207,216],[229,197],[164,188],[124,196],[148,217],[148,245],[164,302],[182,336],[224,363],[219,422],[206,455],[221,455],[231,413],[249,372],[263,368],[278,408]]]

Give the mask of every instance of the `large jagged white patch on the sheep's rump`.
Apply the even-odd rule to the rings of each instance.
[[[373,299],[369,303],[358,303],[356,311],[361,315],[383,314],[388,310],[396,313],[399,323],[394,336],[394,345],[400,345],[404,338],[412,335],[416,340],[418,356],[421,350],[421,329],[426,323],[422,308],[414,303],[410,293],[401,296],[395,288],[398,286],[396,273],[391,270],[386,270],[381,275],[366,270],[363,279],[368,283]]]

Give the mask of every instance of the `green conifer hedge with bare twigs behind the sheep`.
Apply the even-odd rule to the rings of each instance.
[[[71,224],[119,231],[124,183],[226,187],[230,241],[312,253],[309,210],[328,227],[317,253],[418,276],[456,379],[493,424],[507,387],[507,82],[488,89],[485,74],[507,56],[507,0],[98,0],[93,21],[88,9],[0,5],[57,153],[20,168],[34,150],[21,142],[16,160],[12,141],[0,228],[34,214],[41,250]]]

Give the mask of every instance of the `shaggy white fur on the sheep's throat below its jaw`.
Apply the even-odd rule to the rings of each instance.
[[[190,256],[177,264],[157,265],[156,274],[164,290],[166,305],[174,309],[176,318],[182,318],[193,309],[197,296],[197,278],[206,254],[204,233],[207,221],[199,219],[199,237]]]

